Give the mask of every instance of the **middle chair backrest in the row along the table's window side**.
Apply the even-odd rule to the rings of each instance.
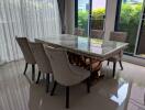
[[[90,31],[90,37],[93,38],[103,38],[104,31],[103,30],[91,30]]]

